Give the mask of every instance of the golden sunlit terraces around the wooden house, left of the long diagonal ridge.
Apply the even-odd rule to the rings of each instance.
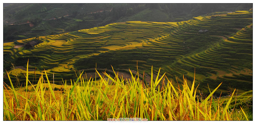
[[[30,64],[36,66],[39,71],[45,69],[50,74],[54,72],[55,79],[58,80],[59,78],[61,80],[60,75],[65,77],[74,74],[73,63],[76,60],[109,50],[133,49],[142,46],[150,39],[167,35],[175,28],[177,28],[176,22],[133,21],[112,23],[104,27],[43,36],[40,37],[43,43],[29,50],[13,49],[13,43],[4,44],[4,56],[6,61],[15,64],[21,64],[30,58]],[[18,40],[15,44],[25,44],[33,39]],[[33,66],[30,66],[30,68],[35,69]],[[23,76],[22,70],[19,71],[21,72],[18,75]],[[38,73],[40,73],[39,71]],[[31,74],[35,72],[31,72]]]

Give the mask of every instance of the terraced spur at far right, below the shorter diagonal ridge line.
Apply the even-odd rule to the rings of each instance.
[[[251,24],[211,48],[178,60],[172,67],[181,66],[187,70],[196,67],[197,73],[207,77],[200,81],[205,86],[206,83],[217,85],[217,82],[223,82],[222,86],[226,87],[252,89],[252,31]]]

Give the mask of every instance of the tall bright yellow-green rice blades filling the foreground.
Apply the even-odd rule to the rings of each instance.
[[[58,87],[63,90],[59,91],[54,91],[46,72],[42,72],[37,85],[31,85],[30,90],[28,71],[25,89],[14,89],[9,78],[11,87],[4,86],[3,120],[107,120],[120,117],[148,120],[248,120],[242,108],[239,109],[240,113],[237,113],[237,109],[228,109],[235,91],[225,105],[220,99],[213,100],[212,95],[221,84],[203,98],[196,95],[194,82],[190,88],[183,77],[182,88],[175,88],[164,75],[159,77],[160,69],[155,81],[151,76],[149,85],[139,79],[138,73],[132,75],[130,72],[132,79],[127,80],[119,78],[118,74],[111,78],[107,73],[102,77],[96,72],[100,81],[91,78],[85,80],[87,77],[81,77],[82,72],[76,81],[70,80],[71,86],[63,81],[64,84]],[[167,79],[167,84],[163,83],[160,87],[158,84],[162,79]]]

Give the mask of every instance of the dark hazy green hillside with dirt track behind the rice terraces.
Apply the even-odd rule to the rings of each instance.
[[[3,9],[3,41],[62,34],[126,21],[179,22],[252,4],[16,3]],[[216,13],[215,13],[216,14]],[[28,23],[27,23],[28,22]]]

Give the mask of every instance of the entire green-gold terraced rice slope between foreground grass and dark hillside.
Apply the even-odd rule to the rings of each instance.
[[[176,77],[193,80],[201,90],[207,84],[219,91],[227,86],[252,90],[252,12],[194,17],[183,22],[128,21],[70,33],[40,37],[42,43],[32,49],[14,49],[14,45],[33,40],[24,39],[4,44],[4,61],[37,67],[35,73],[47,70],[54,81],[75,77],[81,69],[132,69],[146,75],[166,73],[169,80]],[[200,33],[200,29],[208,32]],[[97,63],[97,64],[96,64]],[[8,63],[4,63],[8,67]],[[12,78],[14,75],[11,70]],[[17,72],[16,72],[17,73]],[[23,70],[18,75],[24,77]],[[178,82],[182,80],[177,79]],[[53,80],[51,76],[50,80]],[[211,88],[211,87],[210,87]]]

